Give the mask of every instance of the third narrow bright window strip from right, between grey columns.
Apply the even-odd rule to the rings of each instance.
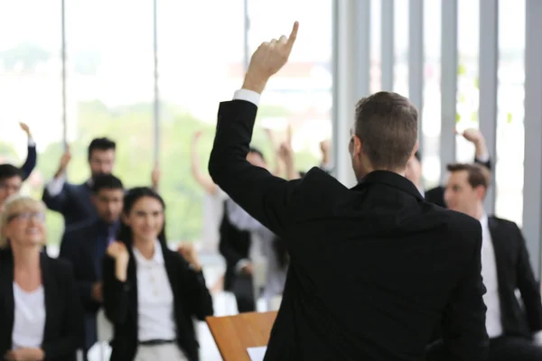
[[[424,2],[424,109],[422,118],[425,187],[440,180],[441,0]]]

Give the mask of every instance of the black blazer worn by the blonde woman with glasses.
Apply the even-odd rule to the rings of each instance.
[[[42,349],[47,361],[75,361],[82,347],[83,316],[71,266],[42,253],[45,329]],[[0,356],[12,348],[14,329],[14,259],[5,253],[0,263]]]

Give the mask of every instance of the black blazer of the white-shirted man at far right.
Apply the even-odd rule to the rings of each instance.
[[[518,225],[509,220],[490,217],[488,226],[497,264],[502,328],[507,336],[531,338],[542,330],[542,301],[525,240]]]

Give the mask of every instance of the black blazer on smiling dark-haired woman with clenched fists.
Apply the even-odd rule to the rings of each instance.
[[[111,361],[128,361],[137,351],[137,279],[132,247],[127,280],[120,282],[115,275],[115,260],[104,258],[103,296],[107,319],[114,324]],[[190,361],[198,361],[199,343],[192,317],[205,319],[212,316],[212,299],[205,286],[203,273],[195,273],[177,252],[162,245],[165,271],[173,291],[174,320],[177,326],[177,344]]]

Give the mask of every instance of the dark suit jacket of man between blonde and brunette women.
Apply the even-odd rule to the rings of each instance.
[[[71,227],[62,237],[59,257],[73,266],[79,296],[85,310],[85,349],[89,349],[98,339],[96,314],[101,303],[92,297],[95,282],[101,282],[102,259],[97,259],[98,236],[107,242],[107,227],[101,221]],[[106,245],[107,247],[107,245]],[[105,249],[104,249],[105,255]]]

